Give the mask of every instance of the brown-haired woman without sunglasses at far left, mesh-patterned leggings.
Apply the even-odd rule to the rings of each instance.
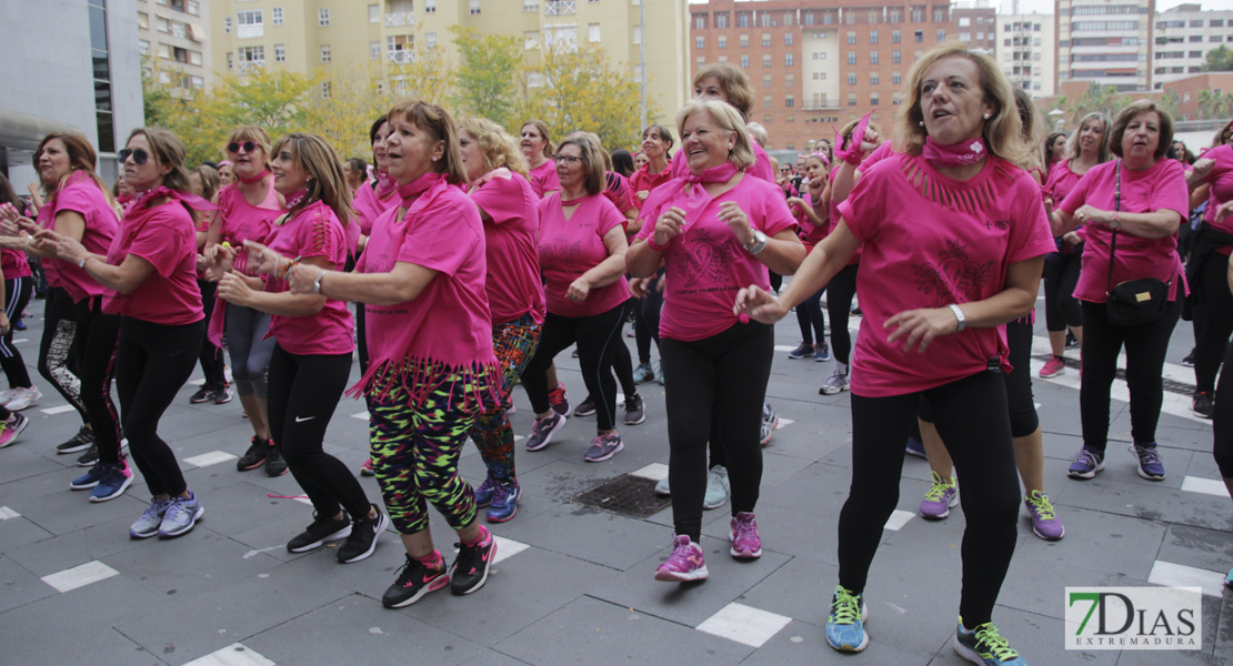
[[[36,227],[54,229],[80,241],[92,252],[105,254],[118,220],[111,192],[94,172],[94,148],[80,134],[53,133],[43,139],[35,155],[48,197],[38,211],[38,224],[22,223],[23,233],[33,234]],[[94,489],[94,501],[116,497],[123,491],[117,471],[123,467],[123,459],[120,420],[111,400],[111,356],[120,321],[102,311],[106,289],[78,266],[57,259],[52,247],[30,243],[30,236],[11,236],[7,243],[9,247],[21,247],[31,256],[42,257],[51,289],[38,372],[78,409],[86,423],[73,438],[55,447],[57,453],[84,451],[78,464],[95,465],[91,474],[75,479],[69,486],[75,490]],[[104,471],[96,463],[104,463],[106,469],[112,470],[107,480],[117,481],[116,485],[96,487]]]

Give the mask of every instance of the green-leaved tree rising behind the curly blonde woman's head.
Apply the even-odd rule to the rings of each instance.
[[[454,107],[457,114],[482,116],[509,126],[517,106],[518,82],[525,59],[518,37],[480,34],[475,28],[451,26],[460,63],[454,70]]]

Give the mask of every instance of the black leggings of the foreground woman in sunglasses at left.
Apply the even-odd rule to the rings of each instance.
[[[173,326],[120,319],[116,390],[128,448],[150,495],[176,496],[189,486],[175,453],[158,435],[158,422],[197,364],[206,323]]]

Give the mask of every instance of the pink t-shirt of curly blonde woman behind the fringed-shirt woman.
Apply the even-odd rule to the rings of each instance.
[[[470,196],[488,214],[483,218],[488,261],[485,288],[492,324],[514,321],[525,314],[543,323],[544,284],[535,247],[540,198],[526,179],[504,167],[485,175]]]

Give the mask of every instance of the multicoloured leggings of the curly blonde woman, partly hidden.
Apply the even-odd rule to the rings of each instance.
[[[503,403],[509,400],[514,384],[535,356],[539,345],[540,324],[531,315],[492,327],[492,350],[501,363],[501,403],[488,405],[471,428],[471,439],[480,449],[488,478],[508,485],[518,480],[514,474],[514,428],[506,416]]]

